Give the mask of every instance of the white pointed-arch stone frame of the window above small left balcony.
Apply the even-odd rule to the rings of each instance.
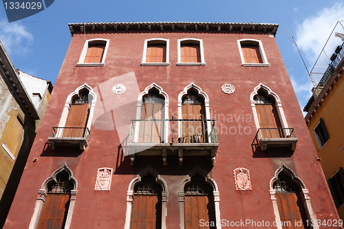
[[[86,127],[88,128],[89,131],[91,131],[92,118],[94,115],[94,108],[96,107],[97,96],[94,93],[92,87],[89,87],[89,85],[87,85],[87,83],[84,83],[80,87],[76,88],[75,91],[73,91],[71,94],[69,94],[69,96],[67,97],[67,100],[65,100],[65,107],[63,107],[62,116],[61,116],[60,122],[58,123],[58,127],[65,127],[65,123],[67,122],[67,117],[68,117],[68,113],[70,110],[70,106],[72,105],[72,100],[75,96],[79,95],[79,92],[82,89],[87,89],[89,91],[89,94],[88,94],[89,117],[87,120]]]

